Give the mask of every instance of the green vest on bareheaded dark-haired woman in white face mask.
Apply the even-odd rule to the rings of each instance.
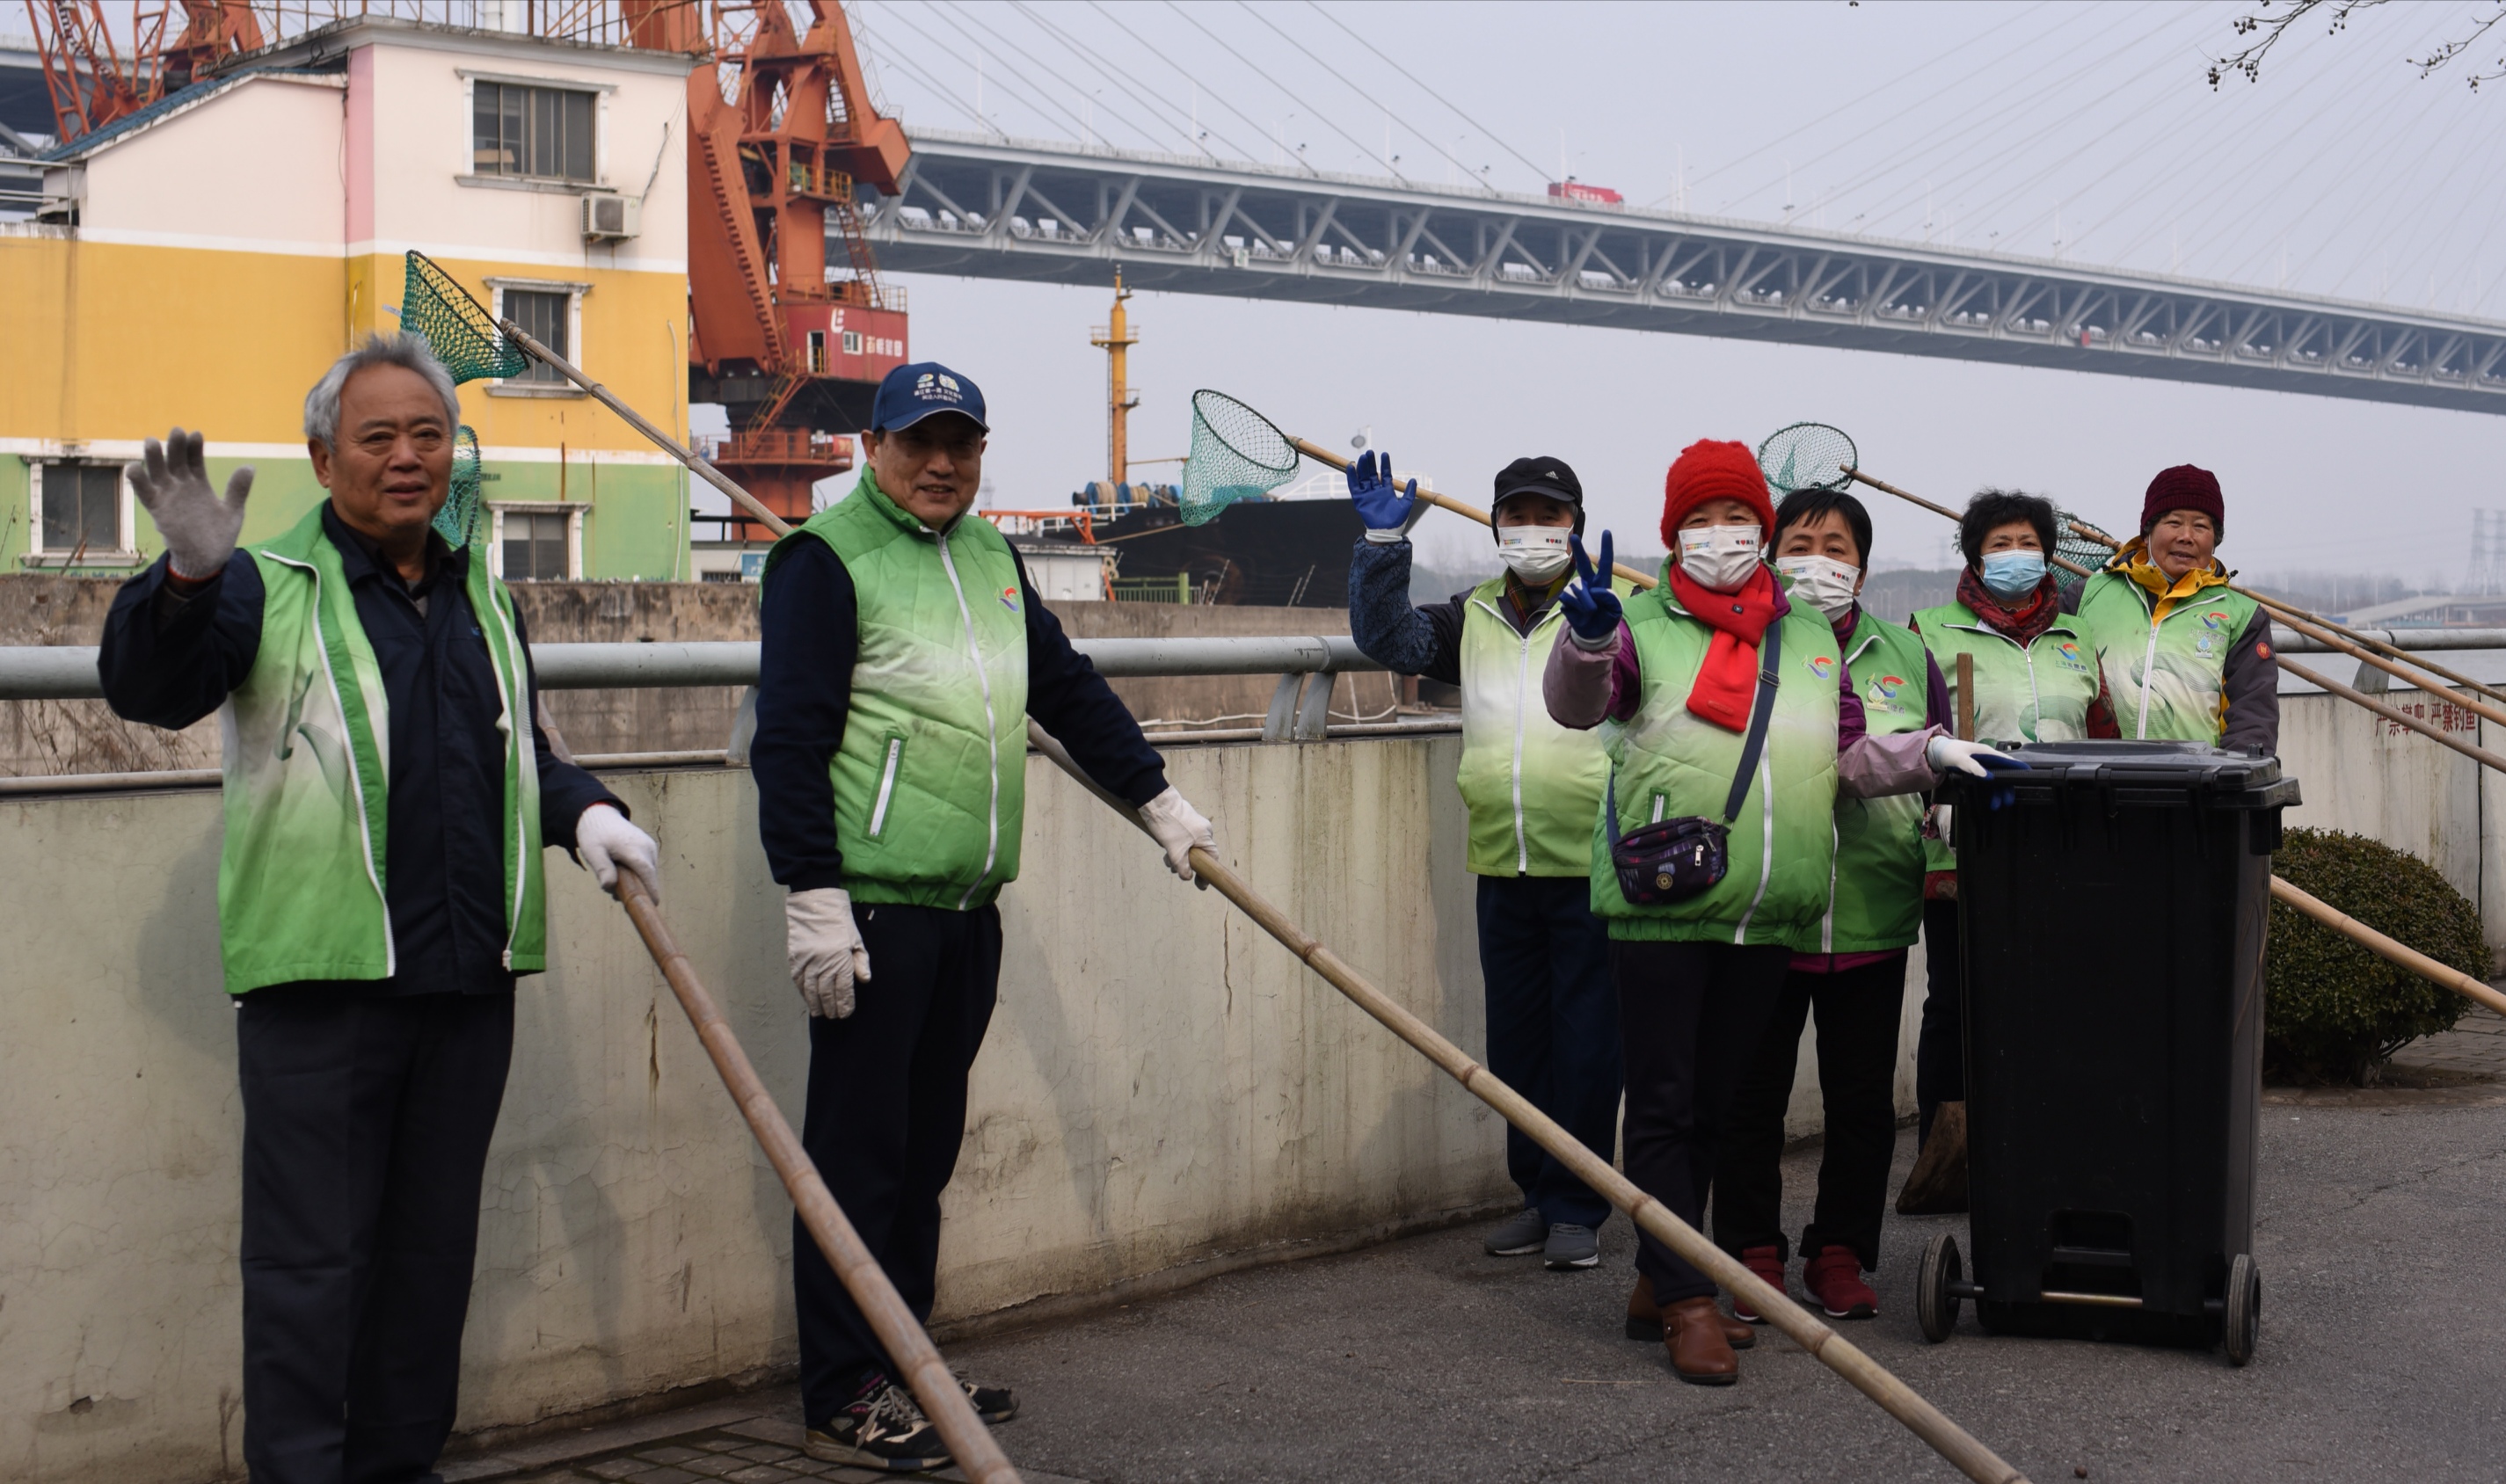
[[[1922,639],[1874,619],[1854,624],[1844,667],[1872,737],[1922,732],[1930,719]],[[1837,865],[1812,953],[1879,953],[1922,935],[1922,795],[1837,795]]]

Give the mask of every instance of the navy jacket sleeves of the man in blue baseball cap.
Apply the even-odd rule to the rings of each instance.
[[[962,516],[982,519],[982,516]],[[1015,551],[1012,551],[1015,556]],[[1140,722],[1105,677],[1070,647],[1063,622],[1035,599],[1017,564],[1027,612],[1027,714],[1070,750],[1105,792],[1138,807],[1165,792],[1165,760],[1140,737]],[[834,780],[827,765],[852,712],[852,662],[860,657],[860,607],[852,572],[834,546],[794,541],[774,564],[759,604],[764,659],[757,672],[757,835],[774,880],[807,892],[845,885],[834,837]]]

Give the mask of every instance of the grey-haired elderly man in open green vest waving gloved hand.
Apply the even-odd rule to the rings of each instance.
[[[454,381],[368,338],[306,394],[331,499],[238,551],[200,434],[130,466],[165,556],[123,584],[113,709],[226,714],[218,930],[243,1083],[243,1461],[256,1484],[429,1479],[454,1424],[479,1181],[546,968],[541,847],[657,887],[654,842],[531,722],[486,551],[431,526]]]

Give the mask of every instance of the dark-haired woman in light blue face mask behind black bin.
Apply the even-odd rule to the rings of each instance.
[[[1967,556],[1967,569],[1957,577],[1957,599],[1915,614],[1915,632],[1950,682],[1950,714],[1967,719],[1977,742],[2115,737],[2098,647],[2087,639],[2087,629],[2062,612],[2057,572],[2045,562],[2055,544],[2052,501],[1985,489],[1967,501],[1967,514],[1957,521],[1957,544]],[[1957,694],[1960,657],[1967,659],[1972,677],[1967,697]],[[1947,810],[1932,815],[1925,825],[1922,880],[1930,998],[1922,1005],[1922,1043],[1915,1053],[1915,1105],[1925,1141],[1932,1138],[1935,1116],[1945,1103],[1967,1100],[1960,1035],[1965,985],[1957,978],[1957,857],[1950,852]],[[1927,1178],[1917,1183],[1930,1186]],[[1900,1203],[1900,1211],[1917,1208],[1925,1206]]]

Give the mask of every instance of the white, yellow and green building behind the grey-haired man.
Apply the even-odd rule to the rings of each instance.
[[[303,516],[303,394],[408,248],[684,439],[687,68],[343,20],[55,150],[0,226],[0,569],[153,559],[120,466],[175,424],[258,469],[246,539]],[[692,577],[684,474],[596,401],[534,366],[461,419],[506,577]]]

